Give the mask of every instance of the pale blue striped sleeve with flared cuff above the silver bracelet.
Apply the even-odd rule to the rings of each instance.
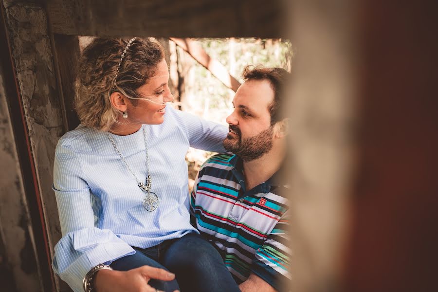
[[[82,280],[92,267],[135,251],[109,229],[94,227],[84,172],[73,147],[62,138],[55,151],[53,189],[62,238],[55,245],[52,267],[73,291],[82,292]]]

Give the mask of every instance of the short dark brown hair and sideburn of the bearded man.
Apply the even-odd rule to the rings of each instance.
[[[264,68],[262,66],[248,65],[243,69],[243,79],[247,80],[269,80],[271,88],[275,92],[274,101],[269,105],[271,113],[271,125],[283,119],[280,111],[281,100],[284,95],[284,88],[287,80],[291,78],[291,73],[283,68]]]

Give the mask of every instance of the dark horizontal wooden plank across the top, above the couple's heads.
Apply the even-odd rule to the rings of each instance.
[[[49,0],[55,34],[153,37],[284,37],[283,1]]]

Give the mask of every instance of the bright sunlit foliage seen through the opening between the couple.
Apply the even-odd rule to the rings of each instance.
[[[240,83],[242,71],[247,65],[281,67],[291,70],[292,45],[283,39],[256,38],[200,38],[197,41],[210,57],[224,65]],[[190,66],[185,80],[185,105],[183,110],[203,118],[225,124],[231,112],[234,91],[223,85],[206,68],[187,53],[179,50]]]

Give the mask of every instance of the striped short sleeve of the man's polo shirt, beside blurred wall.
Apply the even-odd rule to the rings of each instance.
[[[289,211],[286,211],[264,244],[257,249],[251,272],[265,280],[277,291],[284,290],[289,274]]]

